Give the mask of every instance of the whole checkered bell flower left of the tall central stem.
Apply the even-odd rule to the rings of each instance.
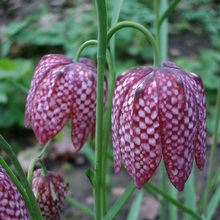
[[[72,122],[72,142],[79,150],[95,133],[97,72],[91,60],[73,62],[61,54],[45,55],[38,63],[27,96],[25,126],[40,144]],[[107,85],[105,81],[105,92]]]

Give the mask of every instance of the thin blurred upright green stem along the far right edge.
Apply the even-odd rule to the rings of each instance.
[[[217,151],[219,122],[220,122],[220,80],[219,80],[217,100],[216,100],[216,114],[215,114],[215,125],[214,125],[214,132],[213,132],[213,143],[212,143],[210,157],[209,157],[208,178],[207,178],[206,188],[204,192],[204,205],[203,205],[204,213],[206,213],[207,211],[209,195],[212,190],[211,182],[213,178],[213,172],[214,172],[215,161],[216,161],[216,156],[217,156],[216,151]]]

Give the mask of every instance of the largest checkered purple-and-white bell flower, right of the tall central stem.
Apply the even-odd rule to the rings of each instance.
[[[112,108],[115,172],[122,159],[137,188],[153,175],[163,156],[171,183],[183,190],[193,160],[204,168],[205,93],[199,76],[172,62],[137,67],[116,79]]]

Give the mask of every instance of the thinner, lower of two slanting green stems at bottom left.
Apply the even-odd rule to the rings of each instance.
[[[1,156],[0,156],[0,164],[4,168],[4,170],[6,171],[8,176],[11,178],[12,182],[17,187],[18,191],[20,192],[23,200],[25,201],[25,205],[28,209],[29,215],[33,217],[35,214],[34,214],[33,208],[31,206],[31,203],[30,203],[30,200],[28,198],[26,191],[24,190],[21,183],[18,181],[15,174],[11,171],[11,168],[8,166],[8,164],[4,161],[4,159]]]

